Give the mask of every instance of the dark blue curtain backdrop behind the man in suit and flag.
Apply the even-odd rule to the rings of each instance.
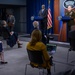
[[[31,21],[31,16],[38,16],[38,12],[41,9],[42,4],[45,4],[46,9],[48,9],[48,0],[27,0],[27,33],[28,34],[30,34],[31,31],[33,30],[33,25],[32,25],[33,21]],[[50,0],[50,8],[52,14],[52,21],[53,21],[54,0]],[[53,27],[49,30],[49,32],[53,33]]]

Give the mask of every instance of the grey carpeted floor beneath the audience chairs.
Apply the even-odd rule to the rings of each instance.
[[[26,45],[28,42],[22,40],[21,42],[23,43],[22,48],[17,48],[17,45],[15,45],[13,48],[7,48],[6,42],[3,40],[5,60],[8,61],[8,64],[0,64],[0,75],[25,75],[25,65],[29,63],[26,51]],[[74,68],[75,62],[71,63],[71,61],[75,60],[75,52],[71,51],[69,53],[69,61],[67,63],[68,49],[69,48],[67,47],[57,46],[56,52],[53,54],[55,72],[54,68],[51,67],[52,75],[56,75],[59,72]],[[27,75],[39,75],[39,70],[28,66]],[[46,70],[44,75],[47,75]]]

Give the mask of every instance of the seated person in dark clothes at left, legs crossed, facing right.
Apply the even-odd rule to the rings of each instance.
[[[10,37],[13,37],[13,36],[14,36],[14,38],[16,39],[16,40],[14,40],[14,41],[17,42],[18,48],[21,48],[21,47],[22,47],[22,46],[21,46],[22,44],[20,43],[20,41],[19,41],[19,39],[18,39],[18,34],[17,34],[16,32],[14,32],[14,31],[10,31],[10,29],[9,29],[9,27],[7,26],[7,23],[6,23],[5,20],[2,21],[2,32],[8,34],[8,35],[7,35],[7,38],[8,38],[8,39],[9,39]],[[13,38],[12,38],[12,39],[13,39]]]

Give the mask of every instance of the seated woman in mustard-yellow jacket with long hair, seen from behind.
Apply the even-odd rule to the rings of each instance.
[[[52,57],[49,57],[47,53],[46,45],[43,42],[41,42],[41,39],[42,39],[41,31],[38,29],[33,30],[31,34],[31,41],[27,44],[27,50],[42,51],[44,59],[45,59],[44,64],[42,64],[42,67],[45,67],[47,69],[47,75],[51,75]],[[34,66],[38,65],[33,62],[31,62],[31,64]]]

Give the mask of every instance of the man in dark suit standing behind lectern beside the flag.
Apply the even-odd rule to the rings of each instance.
[[[47,9],[45,8],[45,5],[42,5],[41,7],[42,9],[39,11],[39,17],[42,18],[42,20],[40,21],[40,30],[42,31],[42,33],[44,33],[45,35],[47,34]]]

